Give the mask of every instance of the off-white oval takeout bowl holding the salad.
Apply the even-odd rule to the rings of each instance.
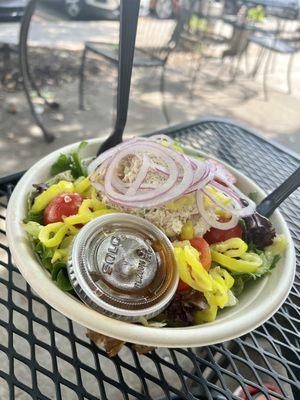
[[[91,140],[83,150],[83,157],[94,156],[101,140]],[[149,328],[109,318],[90,309],[69,294],[61,291],[34,255],[21,221],[26,215],[26,200],[32,184],[45,181],[49,168],[60,153],[76,149],[78,143],[57,150],[30,168],[17,184],[7,209],[7,237],[14,262],[21,274],[48,304],[57,311],[93,331],[125,340],[158,347],[195,347],[220,343],[246,334],[263,324],[282,305],[294,280],[295,252],[293,242],[282,215],[276,211],[272,223],[277,233],[287,238],[287,249],[278,266],[264,278],[252,282],[242,293],[235,307],[222,310],[216,321],[186,328]],[[201,153],[200,153],[201,154]],[[212,158],[212,157],[210,157]],[[228,166],[237,176],[245,193],[264,192],[249,178]]]

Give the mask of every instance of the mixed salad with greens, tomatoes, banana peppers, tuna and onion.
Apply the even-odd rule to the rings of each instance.
[[[61,154],[51,179],[34,185],[24,220],[33,251],[60,289],[76,296],[67,262],[80,229],[119,212],[152,222],[174,248],[176,294],[153,321],[141,321],[147,326],[212,322],[250,281],[275,268],[286,240],[223,164],[165,135],[128,140],[92,160],[80,156],[86,144]]]

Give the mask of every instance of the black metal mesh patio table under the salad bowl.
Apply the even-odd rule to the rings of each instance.
[[[210,119],[167,133],[227,161],[267,191],[300,164],[296,156],[230,122]],[[238,386],[247,399],[252,398],[251,388],[268,399],[300,399],[299,271],[280,311],[243,337],[201,349],[157,349],[141,356],[128,345],[109,359],[90,343],[83,327],[33,293],[13,265],[5,209],[17,178],[0,181],[1,400],[238,399],[233,394]],[[296,245],[299,199],[298,191],[282,206]],[[297,251],[299,265],[299,246]]]

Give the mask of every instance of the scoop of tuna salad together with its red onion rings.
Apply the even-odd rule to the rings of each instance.
[[[184,154],[164,135],[106,151],[91,162],[89,173],[103,203],[147,219],[169,237],[186,224],[198,236],[211,227],[230,229],[255,209],[223,166]]]

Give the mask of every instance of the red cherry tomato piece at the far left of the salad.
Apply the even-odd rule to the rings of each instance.
[[[78,193],[62,193],[55,197],[44,211],[44,224],[62,222],[65,217],[77,214],[82,202]]]

